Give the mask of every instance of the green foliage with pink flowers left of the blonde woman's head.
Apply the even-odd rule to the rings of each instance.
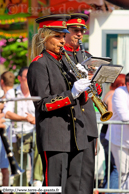
[[[27,38],[3,38],[6,44],[1,46],[1,56],[5,59],[3,65],[17,77],[21,67],[27,66],[28,40]],[[15,83],[17,83],[17,78]]]

